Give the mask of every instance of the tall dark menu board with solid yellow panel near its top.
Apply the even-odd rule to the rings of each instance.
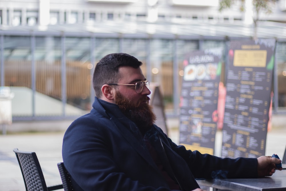
[[[274,39],[230,42],[222,157],[265,155]]]

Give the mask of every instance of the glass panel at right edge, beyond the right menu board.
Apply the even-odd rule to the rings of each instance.
[[[286,109],[286,42],[277,43],[278,107]]]

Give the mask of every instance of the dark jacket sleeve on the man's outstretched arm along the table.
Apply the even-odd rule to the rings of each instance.
[[[188,164],[195,178],[257,178],[257,159],[239,157],[221,158],[199,151],[186,150],[165,135],[172,149]]]

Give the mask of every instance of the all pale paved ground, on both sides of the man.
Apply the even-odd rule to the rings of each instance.
[[[57,163],[62,162],[61,145],[64,132],[57,133],[22,133],[0,135],[0,191],[25,191],[25,185],[14,148],[23,151],[35,151],[48,186],[61,184]],[[178,129],[171,129],[169,137],[178,143]],[[273,153],[283,156],[286,145],[286,127],[273,128],[267,134],[266,155]],[[216,137],[215,155],[221,147],[221,131]]]

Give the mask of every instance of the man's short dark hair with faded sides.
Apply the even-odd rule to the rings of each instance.
[[[96,97],[102,96],[101,87],[104,84],[117,83],[120,76],[118,69],[121,66],[139,68],[142,65],[137,58],[125,53],[113,53],[104,56],[95,66],[93,73],[93,88]]]

